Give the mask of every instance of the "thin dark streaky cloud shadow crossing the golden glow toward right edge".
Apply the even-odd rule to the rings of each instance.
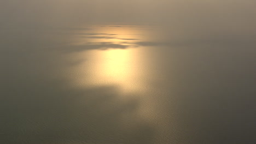
[[[189,39],[177,39],[177,40],[159,40],[159,41],[143,41],[137,38],[123,38],[118,34],[113,33],[77,33],[78,35],[85,35],[84,40],[90,41],[90,39],[109,40],[109,42],[95,42],[84,44],[69,44],[60,46],[66,52],[80,52],[84,50],[107,50],[107,49],[127,49],[131,47],[168,47],[171,49],[193,47],[193,49],[207,48],[215,49],[214,47],[235,47],[241,46],[253,46],[255,35],[243,35],[243,37],[235,35],[209,35],[208,37],[201,38],[189,38]],[[88,35],[88,36],[86,36]],[[120,41],[112,41],[117,39]]]

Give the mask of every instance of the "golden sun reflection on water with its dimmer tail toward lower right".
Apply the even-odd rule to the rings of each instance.
[[[114,87],[113,95],[117,96],[117,99],[139,101],[136,111],[121,113],[120,124],[123,129],[129,130],[131,127],[127,123],[139,121],[156,125],[156,137],[161,137],[163,131],[169,133],[168,125],[172,122],[170,118],[168,121],[159,119],[166,117],[165,113],[161,113],[165,107],[159,102],[159,97],[166,95],[167,92],[152,85],[155,80],[163,79],[150,57],[154,57],[155,47],[136,44],[140,41],[155,40],[152,35],[157,33],[144,26],[89,28],[72,35],[73,46],[85,48],[71,55],[71,59],[82,60],[69,69],[69,74],[65,74],[71,76],[71,87]],[[112,88],[109,91],[112,91]]]

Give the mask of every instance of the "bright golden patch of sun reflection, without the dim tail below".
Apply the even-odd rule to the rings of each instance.
[[[144,54],[136,43],[148,39],[148,27],[91,26],[79,31],[75,46],[86,46],[74,57],[77,65],[76,87],[118,86],[123,92],[142,91],[147,77]],[[91,48],[94,47],[94,48]]]

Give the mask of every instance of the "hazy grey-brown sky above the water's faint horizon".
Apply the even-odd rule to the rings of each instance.
[[[5,26],[150,22],[252,30],[255,5],[254,0],[9,0],[0,2],[0,16]]]

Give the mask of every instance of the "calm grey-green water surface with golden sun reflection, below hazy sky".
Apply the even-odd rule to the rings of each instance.
[[[254,38],[4,29],[0,143],[254,143]]]

